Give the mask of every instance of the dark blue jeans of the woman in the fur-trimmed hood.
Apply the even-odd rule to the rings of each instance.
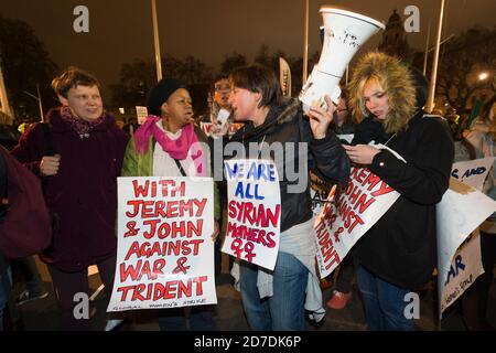
[[[411,290],[396,287],[369,272],[363,266],[358,266],[356,277],[369,330],[414,330],[413,320],[405,317],[405,308],[409,303],[409,301],[405,301],[405,296]]]

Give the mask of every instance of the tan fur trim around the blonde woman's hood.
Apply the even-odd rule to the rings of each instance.
[[[388,96],[389,113],[384,121],[386,132],[398,132],[408,126],[416,111],[416,86],[408,67],[395,56],[371,52],[362,57],[349,84],[349,105],[354,118],[362,121],[370,113],[365,108],[360,88],[376,77]]]

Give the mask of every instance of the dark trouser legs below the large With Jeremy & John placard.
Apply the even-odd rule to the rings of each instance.
[[[186,331],[186,308],[160,311],[159,327],[162,331]],[[214,306],[191,307],[190,329],[193,331],[215,331]]]

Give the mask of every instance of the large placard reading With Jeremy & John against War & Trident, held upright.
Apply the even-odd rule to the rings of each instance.
[[[118,250],[107,311],[217,302],[212,178],[118,178]]]

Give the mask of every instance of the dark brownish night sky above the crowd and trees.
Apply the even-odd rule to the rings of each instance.
[[[134,57],[153,57],[150,0],[0,0],[0,13],[28,22],[45,43],[61,68],[76,65],[94,73],[104,85],[118,81],[120,64]],[[320,47],[319,8],[336,6],[387,22],[393,9],[420,9],[420,33],[408,34],[411,46],[425,45],[432,21],[431,43],[438,25],[440,0],[310,0],[309,55]],[[76,6],[89,9],[89,33],[75,33]],[[261,44],[272,51],[302,55],[303,0],[157,0],[162,53],[188,54],[218,68],[233,51],[254,57]],[[495,0],[446,0],[444,36],[475,24],[496,24]],[[405,17],[403,17],[405,18]],[[374,36],[364,50],[377,45]],[[490,45],[494,45],[492,43]]]

